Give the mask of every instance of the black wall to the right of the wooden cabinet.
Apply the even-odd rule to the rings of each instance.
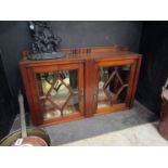
[[[161,87],[168,77],[168,22],[145,22],[140,43],[143,54],[138,100],[159,115]]]

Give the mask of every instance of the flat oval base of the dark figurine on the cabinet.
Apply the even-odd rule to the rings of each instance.
[[[63,52],[52,52],[52,53],[36,53],[30,54],[29,60],[51,60],[51,59],[61,59],[65,57],[65,53]]]

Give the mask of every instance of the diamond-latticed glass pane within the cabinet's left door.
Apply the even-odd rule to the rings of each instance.
[[[79,112],[77,78],[77,70],[36,74],[44,119]]]

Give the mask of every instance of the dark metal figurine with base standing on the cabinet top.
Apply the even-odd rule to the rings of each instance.
[[[57,47],[61,42],[60,37],[55,37],[51,22],[43,21],[30,21],[28,22],[31,36],[34,38],[33,42],[33,54],[30,54],[31,60],[44,60],[44,59],[57,59],[63,57],[64,54],[56,52]]]

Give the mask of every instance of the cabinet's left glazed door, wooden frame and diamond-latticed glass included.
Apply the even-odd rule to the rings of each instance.
[[[33,66],[28,70],[35,125],[50,125],[83,116],[83,65]]]

